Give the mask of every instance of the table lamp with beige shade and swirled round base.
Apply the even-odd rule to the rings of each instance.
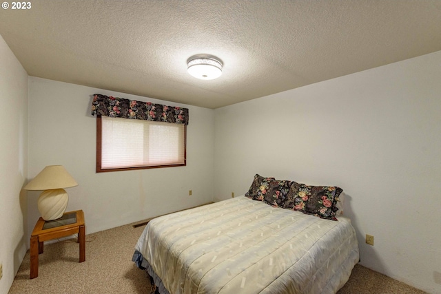
[[[77,186],[74,178],[62,165],[49,165],[28,182],[25,190],[44,190],[38,200],[38,208],[43,220],[56,220],[63,216],[68,206],[68,193],[63,188]]]

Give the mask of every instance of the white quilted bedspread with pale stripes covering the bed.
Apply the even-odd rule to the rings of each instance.
[[[349,219],[244,196],[155,218],[135,249],[172,294],[336,293],[359,260]]]

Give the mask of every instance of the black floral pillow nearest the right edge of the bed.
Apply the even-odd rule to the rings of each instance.
[[[328,220],[337,220],[339,187],[308,186],[291,182],[283,208],[302,211]]]

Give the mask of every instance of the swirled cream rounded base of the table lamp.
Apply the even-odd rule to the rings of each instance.
[[[61,218],[68,207],[68,200],[68,193],[65,189],[50,189],[41,192],[38,207],[43,220]]]

